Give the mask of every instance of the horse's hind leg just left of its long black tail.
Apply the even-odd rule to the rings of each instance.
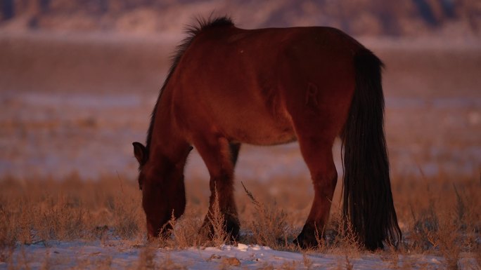
[[[295,243],[302,248],[314,247],[323,237],[331,209],[331,202],[338,173],[333,161],[334,135],[330,135],[328,124],[306,123],[296,127],[302,156],[306,161],[314,184],[314,201],[309,217]]]

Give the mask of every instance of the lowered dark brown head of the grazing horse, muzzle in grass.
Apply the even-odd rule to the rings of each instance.
[[[140,142],[134,142],[134,155],[139,161],[139,188],[146,212],[149,236],[165,236],[172,215],[184,213],[186,195],[184,166],[186,157],[172,161],[165,156],[152,156]]]

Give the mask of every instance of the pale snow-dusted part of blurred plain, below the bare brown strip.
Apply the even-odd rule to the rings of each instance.
[[[1,93],[4,113],[0,115],[0,175],[62,178],[78,173],[82,178],[95,179],[118,174],[134,179],[137,163],[132,142],[145,140],[155,98],[156,94]],[[417,145],[417,135],[412,135],[413,138],[392,136],[394,143],[389,144],[392,168],[398,168],[403,174],[416,173],[420,167],[426,175],[436,175],[441,170],[452,175],[477,172],[480,144],[466,134],[480,127],[480,106],[479,98],[387,99],[388,132],[403,134],[408,127],[415,129],[413,123],[404,120],[414,115],[421,119],[422,124],[418,126],[425,128],[420,135],[432,133],[430,126],[439,129],[437,140],[428,145]],[[423,112],[422,116],[416,114],[419,111]],[[437,120],[439,125],[427,122],[431,116],[438,115],[447,116]],[[449,134],[461,148],[449,147],[447,142],[453,141],[446,137]],[[339,148],[340,145],[335,144],[333,153],[341,174]],[[423,156],[425,152],[428,158]],[[416,156],[421,158],[414,158]],[[446,156],[449,158],[444,158]],[[236,176],[262,181],[276,177],[309,179],[297,143],[276,147],[244,145]],[[189,157],[186,169],[186,179],[194,178],[208,179],[207,169],[196,151]]]

